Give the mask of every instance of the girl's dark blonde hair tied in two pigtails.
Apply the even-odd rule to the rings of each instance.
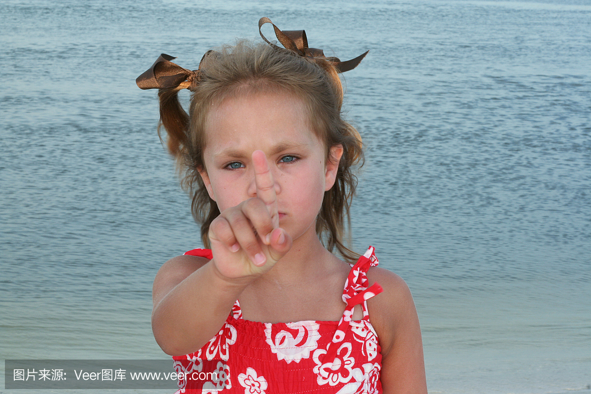
[[[344,245],[343,236],[350,235],[349,210],[357,185],[352,167],[363,164],[361,136],[342,119],[343,87],[329,60],[303,57],[267,44],[239,41],[204,56],[199,66],[199,82],[191,87],[189,115],[178,101],[178,91],[182,87],[158,92],[158,132],[161,127],[167,132],[168,151],[181,169],[181,185],[192,198],[191,211],[194,219],[201,223],[206,247],[209,248],[209,225],[220,214],[199,174],[206,170],[203,150],[209,109],[235,95],[287,92],[304,103],[312,130],[324,142],[327,159],[330,159],[332,146],[343,146],[335,185],[324,193],[316,233],[331,252],[336,248],[349,261],[359,257]]]

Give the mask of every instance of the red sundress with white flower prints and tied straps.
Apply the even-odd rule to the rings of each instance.
[[[185,254],[212,258],[208,249]],[[381,393],[382,355],[366,303],[382,292],[378,284],[369,286],[366,276],[375,265],[378,259],[370,246],[349,272],[343,290],[347,307],[338,322],[248,321],[236,300],[226,323],[209,343],[195,353],[173,357],[174,369],[181,374],[175,394]],[[363,318],[352,321],[358,304]],[[204,379],[208,372],[217,379]]]

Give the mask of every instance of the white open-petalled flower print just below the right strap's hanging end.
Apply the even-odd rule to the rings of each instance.
[[[336,344],[333,344],[335,346]],[[353,365],[355,359],[349,357],[351,354],[351,343],[345,342],[336,352],[335,360],[327,363],[320,361],[320,356],[326,354],[324,349],[316,349],[312,356],[316,366],[313,371],[316,373],[317,382],[320,386],[329,383],[330,386],[335,386],[337,383],[347,383],[353,376]]]

